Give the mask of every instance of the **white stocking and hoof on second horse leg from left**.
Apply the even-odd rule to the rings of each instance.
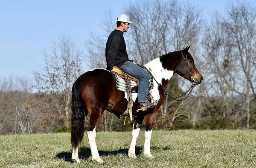
[[[103,163],[103,160],[99,157],[99,152],[98,148],[96,145],[96,127],[94,127],[93,131],[86,131],[88,141],[89,141],[89,146],[92,154],[92,161],[95,160],[98,163]]]

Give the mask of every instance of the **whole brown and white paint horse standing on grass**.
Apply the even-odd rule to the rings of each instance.
[[[150,159],[154,158],[150,151],[153,123],[158,109],[163,104],[163,88],[166,87],[173,74],[177,73],[191,83],[200,84],[203,80],[202,75],[195,67],[192,55],[188,51],[189,47],[157,57],[144,65],[155,78],[155,87],[151,89],[151,96],[157,104],[154,108],[148,109],[143,114],[138,115],[137,109],[139,109],[139,103],[136,95],[133,95],[132,115],[134,116],[134,121],[128,157],[136,158],[135,145],[141,124],[145,118],[143,155]],[[72,87],[71,99],[71,147],[73,150],[72,160],[74,162],[80,162],[78,147],[83,140],[84,120],[88,113],[90,114],[90,122],[86,129],[86,134],[89,141],[91,159],[98,163],[103,162],[99,157],[96,146],[96,130],[99,127],[102,114],[105,110],[116,114],[116,116],[120,116],[125,112],[128,101],[126,94],[115,88],[113,75],[106,69],[94,69],[78,77]]]

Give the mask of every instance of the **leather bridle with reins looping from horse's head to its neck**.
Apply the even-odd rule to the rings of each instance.
[[[188,70],[189,70],[189,65],[188,65],[188,63],[186,62],[187,55],[186,55],[186,59],[185,59],[185,57],[184,57],[184,55],[183,55],[183,53],[182,53],[181,50],[180,50],[180,52],[181,52],[181,55],[182,55],[182,57],[183,57],[183,60],[184,60],[185,63],[186,63],[186,67],[187,67]],[[151,74],[151,72],[150,72],[150,74]],[[152,75],[152,74],[151,74],[151,75]],[[168,97],[170,97],[171,99],[176,100],[176,101],[183,101],[183,100],[186,100],[186,98],[189,97],[189,94],[191,94],[191,92],[192,92],[193,88],[195,87],[195,85],[198,85],[198,80],[193,77],[191,71],[189,70],[189,77],[190,77],[190,79],[193,81],[193,82],[192,82],[192,85],[191,85],[191,87],[185,92],[185,94],[184,94],[184,97],[185,97],[185,98],[179,99],[180,97],[183,97],[183,95],[180,95],[180,96],[175,97],[175,98],[174,98],[174,97],[171,97],[168,93],[166,93],[166,91],[164,90],[164,88],[162,87],[162,85],[160,85],[160,84],[157,82],[157,80],[154,78],[153,75],[152,75],[152,77],[153,77],[153,79],[156,81],[156,83],[157,83],[157,85],[159,86],[159,88],[161,88],[162,91],[163,91]],[[189,92],[189,94],[187,94],[188,92]],[[186,94],[187,94],[187,95],[186,95]]]

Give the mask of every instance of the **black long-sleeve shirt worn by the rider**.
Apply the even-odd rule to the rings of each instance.
[[[123,34],[122,31],[115,29],[108,37],[105,50],[107,69],[111,70],[114,65],[120,67],[129,60]]]

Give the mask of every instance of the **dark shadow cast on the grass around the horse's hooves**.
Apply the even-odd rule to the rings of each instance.
[[[152,146],[151,149],[166,151],[166,150],[169,150],[169,147],[161,148],[161,147],[157,147],[157,146]],[[136,152],[137,156],[140,156],[142,154],[142,151],[143,151],[143,147],[141,147],[141,146],[138,146],[135,148],[135,152]],[[88,159],[91,156],[90,148],[88,148],[88,147],[80,148],[80,151],[78,154],[79,154],[79,159],[82,159],[82,160]],[[101,151],[101,150],[99,150],[99,156],[115,156],[115,155],[119,155],[119,154],[127,155],[128,149],[119,149],[116,151]],[[56,155],[56,158],[63,159],[66,162],[73,162],[73,160],[71,159],[71,155],[72,155],[72,152],[60,152]]]

